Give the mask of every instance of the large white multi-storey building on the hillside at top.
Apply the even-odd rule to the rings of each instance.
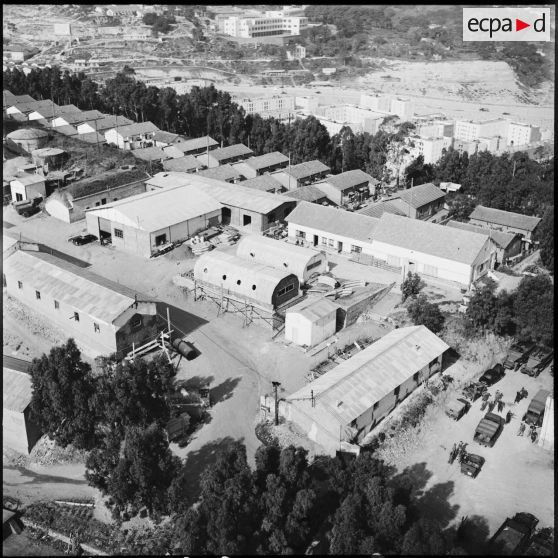
[[[285,16],[283,12],[266,12],[265,15],[253,17],[231,16],[219,21],[219,31],[231,37],[246,39],[274,35],[300,35],[300,32],[307,27],[307,17]]]

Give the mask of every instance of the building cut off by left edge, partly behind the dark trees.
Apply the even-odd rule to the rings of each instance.
[[[28,455],[42,433],[31,413],[30,362],[4,356],[2,435],[4,445]]]

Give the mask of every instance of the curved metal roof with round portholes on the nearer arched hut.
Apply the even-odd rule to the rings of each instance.
[[[214,250],[203,254],[194,265],[194,278],[216,287],[223,287],[239,297],[273,304],[273,293],[283,280],[295,275],[268,265],[252,262]]]

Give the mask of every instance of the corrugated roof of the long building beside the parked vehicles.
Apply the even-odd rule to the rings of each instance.
[[[349,425],[449,346],[425,326],[395,329],[287,397],[310,398]]]

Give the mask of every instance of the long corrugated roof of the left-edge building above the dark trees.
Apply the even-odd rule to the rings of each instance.
[[[5,273],[41,294],[112,323],[134,303],[134,291],[87,269],[43,252],[18,250],[4,262]]]

